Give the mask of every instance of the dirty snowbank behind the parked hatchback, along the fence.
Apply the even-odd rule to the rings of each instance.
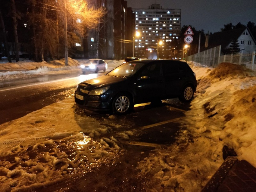
[[[231,63],[190,65],[198,88],[183,131],[176,144],[139,162],[142,175],[152,176],[150,191],[200,191],[223,163],[224,145],[256,166],[255,72]]]

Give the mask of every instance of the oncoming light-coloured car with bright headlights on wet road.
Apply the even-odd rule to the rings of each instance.
[[[108,64],[102,59],[89,59],[80,65],[83,74],[87,71],[98,73],[98,71],[106,71]]]

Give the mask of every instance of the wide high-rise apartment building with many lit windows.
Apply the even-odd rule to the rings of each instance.
[[[170,58],[172,42],[180,35],[181,9],[162,9],[160,4],[153,4],[133,12],[135,32],[140,33],[135,36],[135,56],[155,59],[158,49],[158,58]]]

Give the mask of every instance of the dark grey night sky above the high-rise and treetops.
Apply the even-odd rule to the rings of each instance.
[[[256,0],[126,0],[128,7],[144,8],[160,4],[162,8],[181,9],[181,26],[192,25],[196,30],[215,33],[224,24],[236,25],[248,21],[256,24]]]

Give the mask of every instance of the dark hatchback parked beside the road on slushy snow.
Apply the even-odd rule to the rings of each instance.
[[[134,104],[178,97],[189,102],[196,91],[195,73],[186,62],[137,60],[80,83],[75,102],[89,110],[129,113]]]

